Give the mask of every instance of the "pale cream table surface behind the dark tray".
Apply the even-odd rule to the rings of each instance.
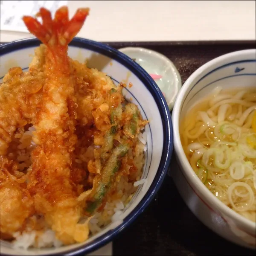
[[[255,1],[69,1],[90,7],[78,36],[96,41],[255,40]],[[29,37],[0,32],[0,41]]]

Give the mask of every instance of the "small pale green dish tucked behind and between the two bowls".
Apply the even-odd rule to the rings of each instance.
[[[149,74],[156,74],[162,78],[155,80],[166,99],[169,110],[172,110],[177,94],[181,88],[180,74],[166,56],[159,52],[140,47],[126,47],[118,49],[140,64]]]

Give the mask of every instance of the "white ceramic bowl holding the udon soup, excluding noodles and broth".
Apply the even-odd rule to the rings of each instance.
[[[176,186],[191,211],[211,230],[236,244],[256,248],[256,223],[242,217],[216,198],[197,177],[183,151],[179,124],[186,111],[216,86],[224,89],[256,86],[256,49],[232,52],[209,61],[184,83],[172,112]]]

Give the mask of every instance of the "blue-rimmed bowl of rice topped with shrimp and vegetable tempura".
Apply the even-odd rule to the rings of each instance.
[[[73,38],[66,7],[37,38],[0,46],[1,255],[86,254],[112,241],[160,188],[172,154],[161,90],[131,58]],[[39,39],[38,39],[39,38]]]

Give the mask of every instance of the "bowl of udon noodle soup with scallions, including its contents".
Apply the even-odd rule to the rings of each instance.
[[[256,49],[198,68],[172,112],[175,184],[211,230],[256,248]]]

